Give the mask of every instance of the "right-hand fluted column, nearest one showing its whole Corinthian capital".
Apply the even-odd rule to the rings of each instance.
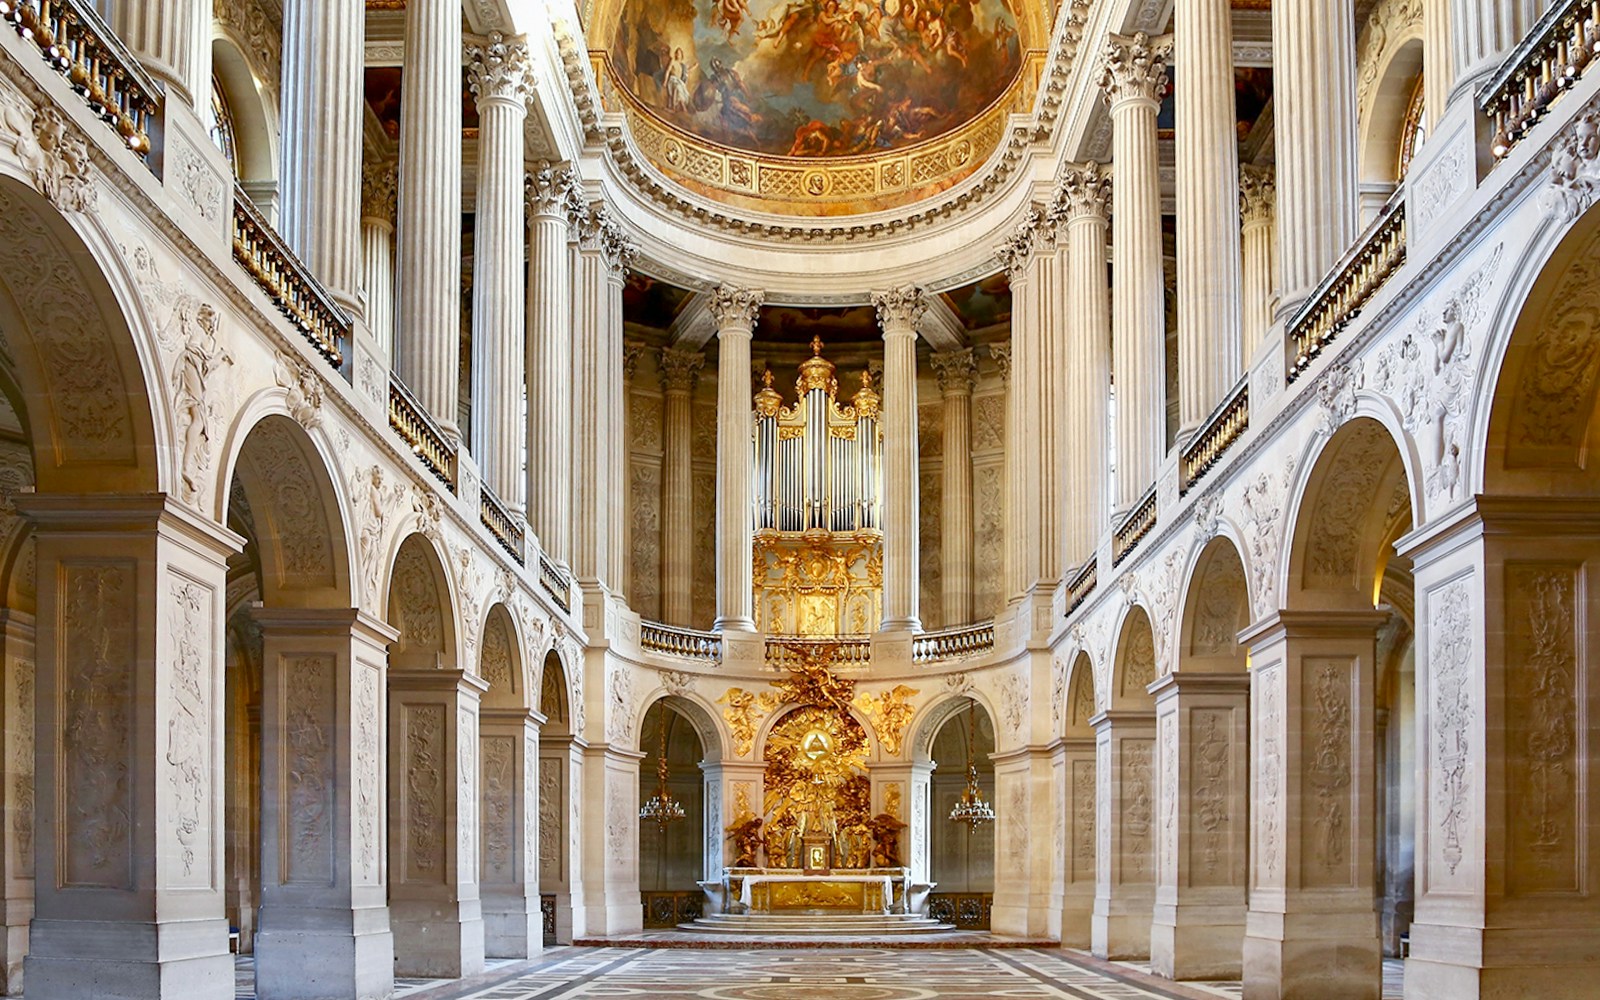
[[[1322,2],[1322,0],[1318,0]],[[1149,35],[1112,35],[1101,86],[1110,102],[1117,171],[1112,261],[1112,370],[1117,378],[1117,509],[1155,482],[1166,451],[1166,286],[1162,277],[1162,186],[1155,114],[1166,51]]]

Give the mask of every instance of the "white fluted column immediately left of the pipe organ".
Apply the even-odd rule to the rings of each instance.
[[[750,334],[763,293],[718,285],[717,320],[717,621],[722,632],[755,630],[755,518],[750,512]]]

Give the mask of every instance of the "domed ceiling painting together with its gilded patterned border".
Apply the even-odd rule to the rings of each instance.
[[[850,214],[976,170],[1026,110],[1042,53],[1024,0],[595,0],[608,110],[720,200]],[[603,46],[603,48],[602,48]]]

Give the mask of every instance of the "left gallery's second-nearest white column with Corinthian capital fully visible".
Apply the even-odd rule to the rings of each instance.
[[[528,174],[528,526],[544,554],[571,558],[573,272],[566,206],[573,171],[539,163]]]

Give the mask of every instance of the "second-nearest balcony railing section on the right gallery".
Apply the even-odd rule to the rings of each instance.
[[[1405,264],[1405,187],[1384,205],[1378,219],[1344,261],[1317,286],[1310,301],[1290,322],[1294,363],[1288,381],[1298,379],[1323,349],[1362,314],[1368,299]]]

